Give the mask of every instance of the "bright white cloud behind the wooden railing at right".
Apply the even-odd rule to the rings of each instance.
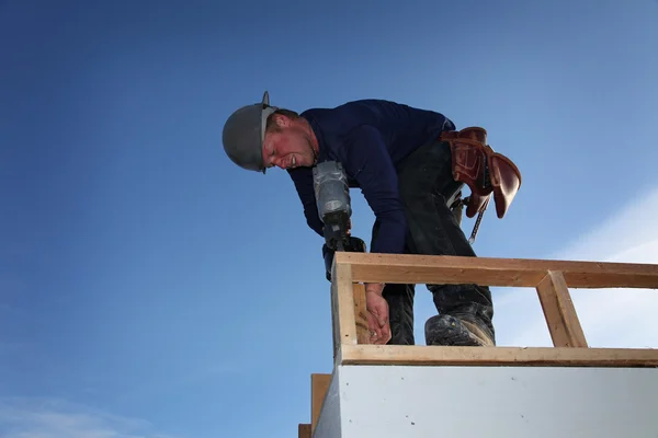
[[[621,207],[615,217],[546,258],[658,264],[658,189]],[[570,292],[589,346],[658,347],[658,290]],[[510,289],[496,304],[498,345],[553,345],[534,289]]]

